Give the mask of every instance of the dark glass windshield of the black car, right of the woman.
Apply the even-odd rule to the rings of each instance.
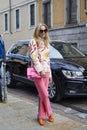
[[[51,42],[51,46],[55,48],[55,50],[58,51],[63,58],[85,57],[85,55],[79,49],[77,49],[74,45],[69,43]],[[56,55],[55,50],[53,52],[55,53],[54,56]]]

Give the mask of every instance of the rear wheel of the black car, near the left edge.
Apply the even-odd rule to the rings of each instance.
[[[14,88],[16,85],[15,81],[13,80],[13,76],[10,69],[6,70],[6,83],[7,83],[7,87],[12,87],[12,88]]]

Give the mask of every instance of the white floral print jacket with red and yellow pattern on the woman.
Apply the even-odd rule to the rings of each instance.
[[[36,41],[32,39],[29,44],[29,54],[36,71],[50,72],[51,77],[49,47],[47,48],[43,41],[41,41],[40,47],[38,47]]]

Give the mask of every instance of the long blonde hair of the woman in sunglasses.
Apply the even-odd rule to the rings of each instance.
[[[47,29],[46,37],[44,38],[44,43],[45,43],[46,47],[48,47],[49,43],[50,43],[50,39],[49,39],[49,35],[48,35],[48,27],[47,27],[46,24],[40,23],[39,25],[37,25],[37,27],[35,28],[34,34],[33,34],[33,38],[35,39],[36,43],[39,46],[40,45],[40,41],[41,41],[40,35],[39,35],[41,26],[44,26]]]

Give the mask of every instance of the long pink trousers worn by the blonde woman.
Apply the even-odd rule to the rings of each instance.
[[[51,104],[48,94],[49,73],[46,73],[46,78],[34,79],[38,94],[39,94],[39,109],[38,118],[44,119],[46,115],[49,117],[52,114]]]

